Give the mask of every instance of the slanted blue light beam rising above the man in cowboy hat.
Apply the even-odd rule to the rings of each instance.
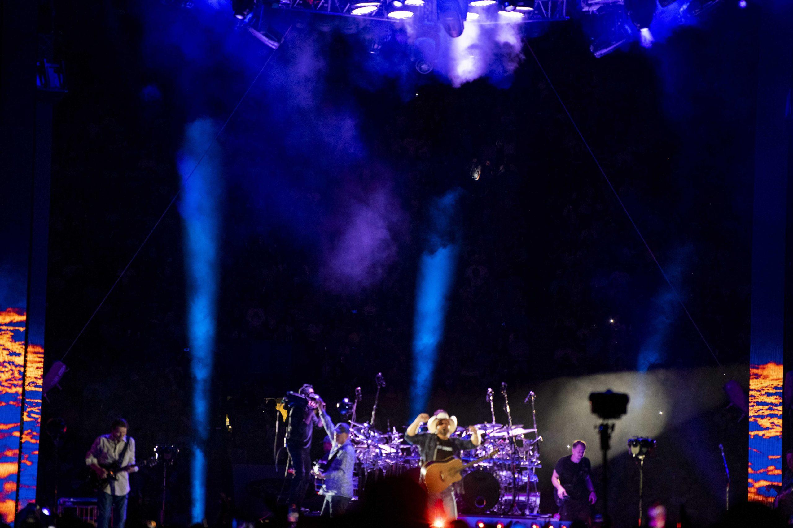
[[[412,415],[425,412],[435,375],[438,344],[443,337],[446,300],[454,283],[457,263],[457,210],[459,189],[446,192],[431,207],[427,249],[419,261],[416,313],[413,320]]]

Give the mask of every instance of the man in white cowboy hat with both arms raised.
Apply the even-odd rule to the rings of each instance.
[[[419,433],[419,426],[424,422],[427,422],[427,431],[429,432]],[[413,423],[408,427],[404,439],[407,443],[419,446],[422,464],[459,456],[460,451],[472,450],[481,443],[479,431],[473,425],[468,427],[468,431],[471,433],[469,440],[450,437],[454,431],[457,431],[457,416],[449,416],[448,412],[439,409],[432,417],[426,412],[416,416],[416,420],[413,420]],[[440,493],[430,494],[431,509],[435,509],[439,501],[442,502],[443,509],[446,511],[446,519],[457,519],[454,486],[450,486]]]

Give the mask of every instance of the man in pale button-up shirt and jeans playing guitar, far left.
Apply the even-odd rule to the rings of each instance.
[[[97,498],[97,528],[109,528],[110,511],[113,509],[115,528],[124,528],[127,519],[127,496],[129,473],[137,471],[135,465],[135,440],[127,436],[127,420],[117,418],[110,425],[110,434],[94,440],[86,454],[86,465],[93,469],[100,480],[109,477],[108,469],[121,469],[114,473]]]

